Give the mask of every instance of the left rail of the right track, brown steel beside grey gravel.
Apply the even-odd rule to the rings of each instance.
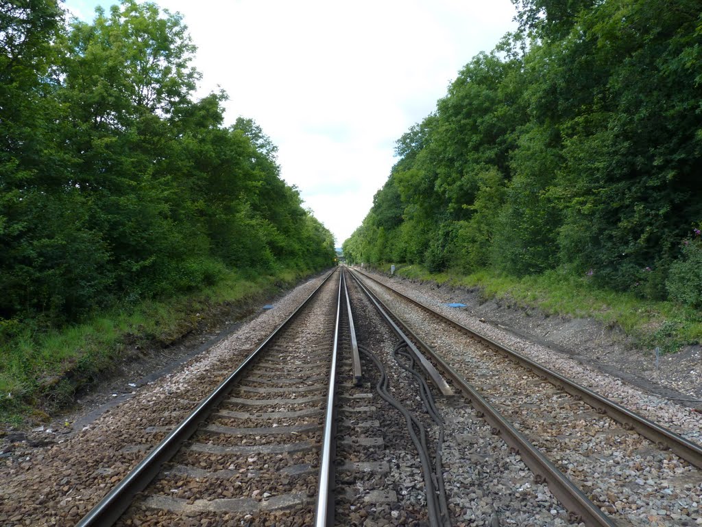
[[[351,272],[354,278],[360,283],[360,279]],[[364,273],[363,273],[364,274]],[[364,274],[365,275],[365,274]],[[369,290],[364,287],[364,289]],[[383,301],[378,299],[373,292],[369,293],[375,300],[383,306],[388,313],[397,321],[397,324],[402,325],[403,329],[413,334],[409,327],[395,313],[386,306]],[[600,527],[615,527],[609,517],[600,510],[597,505],[592,503],[590,499],[578,488],[565,474],[541,453],[541,450],[534,447],[529,439],[519,432],[507,419],[505,419],[493,405],[480,395],[480,393],[468,382],[461,377],[453,368],[447,364],[437,353],[427,344],[417,340],[420,347],[435,360],[444,374],[451,379],[454,386],[463,392],[468,403],[477,410],[479,417],[483,417],[492,427],[494,434],[501,436],[503,441],[510,445],[516,453],[522,457],[524,464],[534,472],[536,480],[540,483],[547,483],[551,493],[562,503],[562,505],[571,513],[575,519],[585,522],[587,526]]]

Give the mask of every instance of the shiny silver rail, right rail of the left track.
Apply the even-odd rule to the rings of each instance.
[[[331,349],[331,367],[329,368],[329,391],[326,396],[326,413],[324,415],[324,435],[322,436],[322,453],[319,457],[319,483],[317,485],[317,510],[314,525],[326,527],[334,524],[334,484],[333,457],[336,454],[336,419],[334,415],[336,399],[336,356],[339,344],[339,326],[341,321],[341,293],[345,293],[346,282],[343,270],[339,273],[339,292],[336,299],[336,323],[334,325],[334,344]],[[347,295],[345,295],[347,296]],[[355,339],[355,337],[354,337]]]

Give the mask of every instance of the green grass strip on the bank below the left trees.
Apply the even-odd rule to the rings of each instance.
[[[291,287],[295,271],[274,275],[232,272],[216,285],[180,297],[144,301],[97,313],[84,323],[39,332],[0,326],[0,423],[21,426],[70,405],[75,393],[109,374],[128,344],[171,344],[225,304],[270,296]]]

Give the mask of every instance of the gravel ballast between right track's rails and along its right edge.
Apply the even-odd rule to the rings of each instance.
[[[370,286],[418,332],[420,338],[437,349],[517,429],[527,434],[534,445],[578,483],[602,510],[623,524],[637,526],[693,525],[700,518],[702,476],[696,467],[659,450],[608,417],[598,415],[569,394],[541,382],[538,376],[513,365],[510,360],[465,337],[447,323],[439,322],[420,308],[410,306],[378,285]],[[417,297],[408,287],[397,289]],[[418,299],[436,308],[439,302],[428,297],[425,294]],[[481,325],[479,320],[476,324],[465,313],[457,315],[454,311],[449,315],[468,327],[471,323],[473,327]],[[567,377],[575,377],[576,369],[578,372],[585,370],[581,365],[567,364],[567,358],[554,357],[550,350],[538,349],[533,343],[512,337],[508,344],[504,334],[496,335],[484,329],[491,328],[482,325],[476,330],[538,362],[548,363],[549,367]],[[581,374],[576,380],[619,401],[637,401],[640,406],[647,407],[642,404],[642,400],[649,397],[646,394],[640,393],[637,400],[636,389],[627,387],[624,393],[618,393],[616,388],[623,386],[621,382],[613,383],[614,379],[600,372],[588,373],[590,375]],[[588,382],[583,382],[583,379]],[[698,415],[689,408],[670,403],[667,406],[673,407],[670,408],[672,411],[656,408],[657,411],[649,412],[647,417],[656,420],[662,415],[665,418],[663,424],[670,424],[682,413],[687,419],[683,420],[682,427],[678,422],[675,428],[692,441],[698,440],[700,428],[694,424],[689,427],[689,424],[699,422]]]

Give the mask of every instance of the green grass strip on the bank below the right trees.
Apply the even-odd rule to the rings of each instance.
[[[390,272],[390,266],[383,266]],[[635,294],[599,289],[587,277],[548,271],[524,278],[479,271],[429,273],[422,266],[397,266],[397,275],[453,287],[480,289],[484,299],[503,299],[519,307],[538,308],[548,315],[594,318],[607,327],[618,327],[635,346],[660,348],[674,353],[682,346],[702,341],[702,313],[670,301],[650,301]]]

